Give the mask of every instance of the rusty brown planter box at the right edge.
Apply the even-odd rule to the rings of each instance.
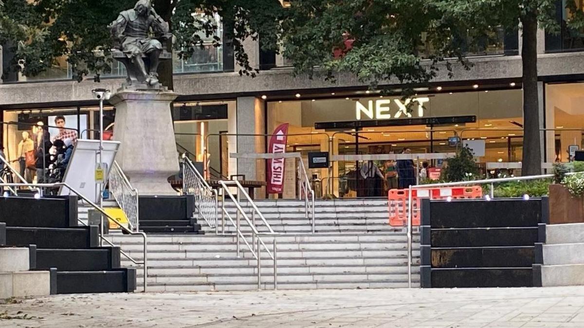
[[[584,223],[584,197],[573,197],[561,184],[550,184],[550,224]]]

